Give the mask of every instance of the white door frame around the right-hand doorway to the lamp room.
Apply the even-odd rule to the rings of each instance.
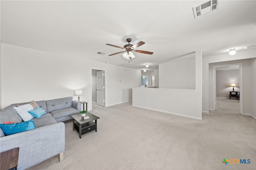
[[[239,65],[239,95],[240,95],[240,114],[243,115],[243,63],[232,63],[232,64],[222,64],[222,65],[214,65],[212,68],[212,96],[213,96],[213,111],[216,111],[216,68],[222,66],[230,66],[230,65]]]

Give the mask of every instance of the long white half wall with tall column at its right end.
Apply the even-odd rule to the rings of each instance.
[[[137,87],[132,89],[132,105],[202,120],[202,51],[196,51],[195,55],[194,90]],[[163,65],[166,69],[166,64]],[[160,64],[159,77],[164,77],[166,73],[169,73],[168,70],[161,71],[162,68]],[[175,72],[170,73],[175,74]],[[159,87],[161,86],[161,81],[159,81]]]

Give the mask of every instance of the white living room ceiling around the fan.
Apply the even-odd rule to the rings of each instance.
[[[195,19],[192,7],[202,2],[1,0],[1,43],[118,65],[128,61],[122,53],[108,55],[122,49],[105,44],[122,47],[132,38],[145,42],[137,49],[154,52],[134,53],[125,67],[135,69],[146,63],[155,69],[196,50],[206,57],[256,44],[255,0],[220,0],[218,10]]]

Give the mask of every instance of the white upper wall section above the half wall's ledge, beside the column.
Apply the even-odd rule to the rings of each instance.
[[[159,88],[196,89],[195,59],[160,64]]]

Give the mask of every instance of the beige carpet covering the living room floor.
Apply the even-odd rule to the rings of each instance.
[[[203,114],[198,121],[132,107],[93,105],[98,132],[79,138],[66,121],[64,160],[54,156],[30,169],[171,170],[256,169],[256,120],[250,116]],[[222,160],[250,159],[250,164]]]

